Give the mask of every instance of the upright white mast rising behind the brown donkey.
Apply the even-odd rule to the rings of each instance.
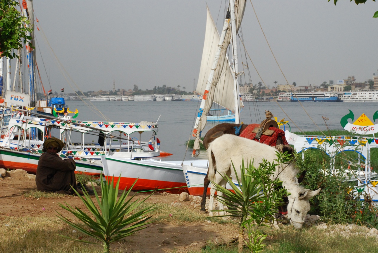
[[[237,43],[236,43],[236,19],[235,19],[235,2],[234,0],[229,0],[230,6],[230,14],[231,14],[231,46],[232,46],[232,53],[234,59],[234,81],[235,81],[235,123],[240,124],[240,112],[239,112],[239,82],[237,80],[237,75],[239,73],[239,60],[238,60],[238,52],[237,52]]]

